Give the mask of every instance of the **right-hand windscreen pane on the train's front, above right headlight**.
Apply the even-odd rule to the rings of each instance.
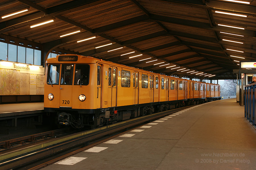
[[[90,66],[88,64],[76,64],[74,85],[89,84]]]

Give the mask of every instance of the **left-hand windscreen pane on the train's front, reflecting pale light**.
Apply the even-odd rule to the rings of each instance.
[[[59,64],[48,66],[47,84],[59,84]]]

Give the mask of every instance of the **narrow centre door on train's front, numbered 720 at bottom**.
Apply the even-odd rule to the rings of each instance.
[[[72,107],[73,64],[62,64],[60,82],[60,107]]]

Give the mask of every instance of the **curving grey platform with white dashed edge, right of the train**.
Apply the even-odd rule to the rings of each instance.
[[[43,170],[255,169],[256,130],[236,99],[184,109]]]

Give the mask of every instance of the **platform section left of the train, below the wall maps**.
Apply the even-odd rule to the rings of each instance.
[[[44,102],[0,105],[0,118],[42,112],[44,112]]]

